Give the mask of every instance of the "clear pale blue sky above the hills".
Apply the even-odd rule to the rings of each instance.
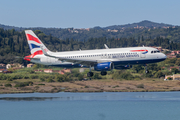
[[[180,26],[180,0],[0,0],[0,24],[92,28],[149,20]]]

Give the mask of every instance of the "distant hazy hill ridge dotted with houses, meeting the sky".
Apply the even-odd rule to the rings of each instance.
[[[180,42],[180,26],[174,26],[164,23],[156,23],[148,20],[144,20],[138,23],[125,24],[125,25],[113,25],[107,27],[96,26],[94,28],[43,28],[43,27],[33,27],[33,28],[22,28],[1,25],[0,28],[5,30],[15,29],[16,31],[24,31],[26,29],[31,29],[33,31],[40,30],[46,35],[52,35],[61,40],[74,39],[78,41],[87,41],[90,38],[129,38],[134,37],[138,39],[143,36],[145,39],[151,37],[156,38],[161,36],[168,38],[174,42]]]

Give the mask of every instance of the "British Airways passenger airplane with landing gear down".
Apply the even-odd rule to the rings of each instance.
[[[24,60],[64,68],[89,67],[88,77],[93,76],[91,68],[106,75],[113,69],[129,69],[132,65],[144,64],[146,73],[148,63],[156,63],[166,59],[166,55],[152,47],[126,47],[108,48],[96,50],[79,50],[52,52],[42,43],[32,30],[25,30],[31,55]]]

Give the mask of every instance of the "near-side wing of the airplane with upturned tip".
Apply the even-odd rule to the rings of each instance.
[[[97,61],[97,60],[82,60],[82,59],[73,59],[73,58],[65,58],[65,57],[59,57],[59,56],[54,56],[54,55],[51,55],[51,54],[48,54],[42,46],[40,46],[42,51],[43,51],[43,54],[45,56],[48,56],[48,57],[53,57],[53,58],[58,58],[59,60],[63,61],[63,62],[72,62],[74,64],[83,64],[83,65],[94,65],[94,64],[97,64],[99,63],[100,61]]]

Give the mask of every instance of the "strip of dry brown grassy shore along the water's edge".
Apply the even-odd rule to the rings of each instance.
[[[33,80],[33,84],[15,87],[17,82],[28,80],[1,81],[0,94],[18,93],[93,93],[93,92],[172,92],[180,91],[180,81],[163,81],[161,79],[143,80],[89,80],[71,82],[41,82]],[[31,80],[32,81],[32,80]],[[12,87],[5,87],[5,84]]]

